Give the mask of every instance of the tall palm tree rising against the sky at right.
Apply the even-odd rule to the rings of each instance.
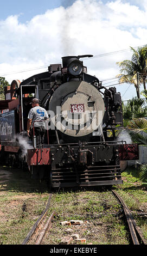
[[[145,82],[147,77],[147,45],[138,47],[137,50],[130,47],[133,51],[131,60],[123,60],[117,62],[119,65],[121,74],[119,77],[119,83],[131,83],[136,88],[137,97],[139,98],[139,84],[143,83],[144,90],[146,89]]]

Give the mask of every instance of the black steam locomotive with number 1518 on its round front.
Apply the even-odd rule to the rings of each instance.
[[[1,162],[28,168],[32,178],[47,178],[51,187],[122,184],[120,160],[130,159],[125,141],[116,140],[123,126],[122,100],[115,87],[105,88],[87,74],[81,58],[62,57],[47,72],[14,80],[0,101]],[[49,114],[44,143],[29,139],[27,119],[33,98]],[[26,144],[26,145],[25,145]],[[131,159],[138,156],[131,150]]]

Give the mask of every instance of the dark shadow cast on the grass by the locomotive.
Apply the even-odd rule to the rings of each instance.
[[[0,167],[0,191],[16,191],[25,193],[43,193],[43,192],[76,192],[76,191],[98,191],[104,192],[111,190],[111,187],[95,186],[95,187],[68,187],[68,188],[52,188],[50,190],[47,180],[40,182],[39,180],[31,179],[29,171],[23,171],[18,168]]]

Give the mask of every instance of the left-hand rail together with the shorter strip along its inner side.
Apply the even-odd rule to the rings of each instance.
[[[49,229],[52,227],[54,212],[50,215],[50,217],[47,220],[47,212],[49,209],[51,198],[52,194],[49,195],[46,209],[42,212],[41,216],[35,222],[29,234],[27,235],[27,237],[25,237],[22,245],[27,245],[29,242],[34,243],[34,245],[40,245],[42,243],[44,236],[47,234],[47,231],[49,231]]]

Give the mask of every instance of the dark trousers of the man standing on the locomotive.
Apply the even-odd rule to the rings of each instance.
[[[34,127],[34,135],[36,136],[36,148],[40,148],[43,145],[44,133],[45,133],[44,126]],[[33,129],[32,129],[32,137],[33,137]]]

